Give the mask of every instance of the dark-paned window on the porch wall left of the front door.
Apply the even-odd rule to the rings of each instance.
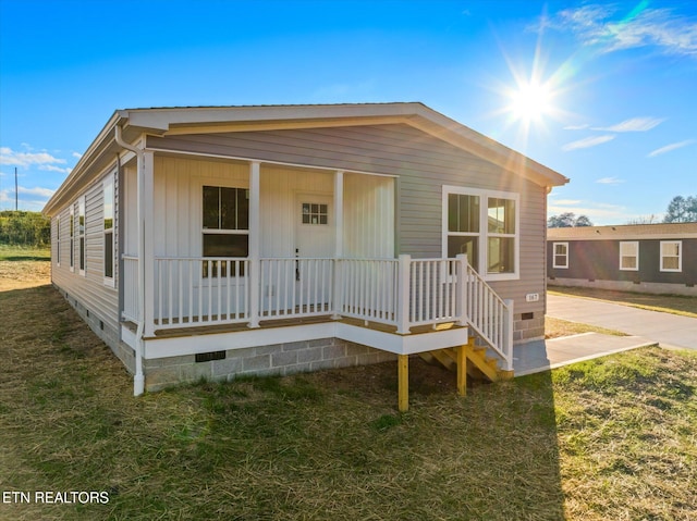
[[[249,255],[249,190],[224,186],[203,189],[204,257],[247,257]],[[220,275],[227,276],[225,264]],[[218,275],[212,263],[212,276]],[[207,263],[204,276],[208,276]]]

